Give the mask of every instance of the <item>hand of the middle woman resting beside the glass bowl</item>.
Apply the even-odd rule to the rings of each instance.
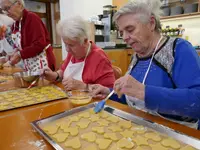
[[[64,78],[62,80],[62,84],[67,91],[87,88],[87,84],[83,83],[82,81],[75,80],[72,77]]]

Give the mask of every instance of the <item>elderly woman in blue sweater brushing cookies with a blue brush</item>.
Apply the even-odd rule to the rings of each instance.
[[[197,127],[200,59],[188,41],[161,36],[160,6],[160,0],[133,0],[115,14],[115,23],[135,55],[127,75],[114,84],[122,97],[111,99]],[[110,92],[100,85],[90,88],[99,98]]]

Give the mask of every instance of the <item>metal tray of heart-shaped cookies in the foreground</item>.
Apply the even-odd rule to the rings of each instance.
[[[56,150],[196,150],[200,141],[124,111],[96,103],[33,121]]]

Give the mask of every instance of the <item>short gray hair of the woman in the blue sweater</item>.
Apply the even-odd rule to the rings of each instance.
[[[133,13],[138,15],[141,22],[147,23],[151,15],[153,15],[156,22],[155,30],[160,31],[160,15],[162,14],[160,7],[160,0],[130,0],[115,13],[113,21],[117,23],[120,16]]]

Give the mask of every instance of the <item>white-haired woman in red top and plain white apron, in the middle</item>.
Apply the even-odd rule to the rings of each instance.
[[[88,84],[113,87],[115,77],[104,51],[89,41],[88,22],[79,16],[60,21],[57,32],[68,55],[61,68],[44,70],[46,79],[61,81],[66,90],[87,89]]]

